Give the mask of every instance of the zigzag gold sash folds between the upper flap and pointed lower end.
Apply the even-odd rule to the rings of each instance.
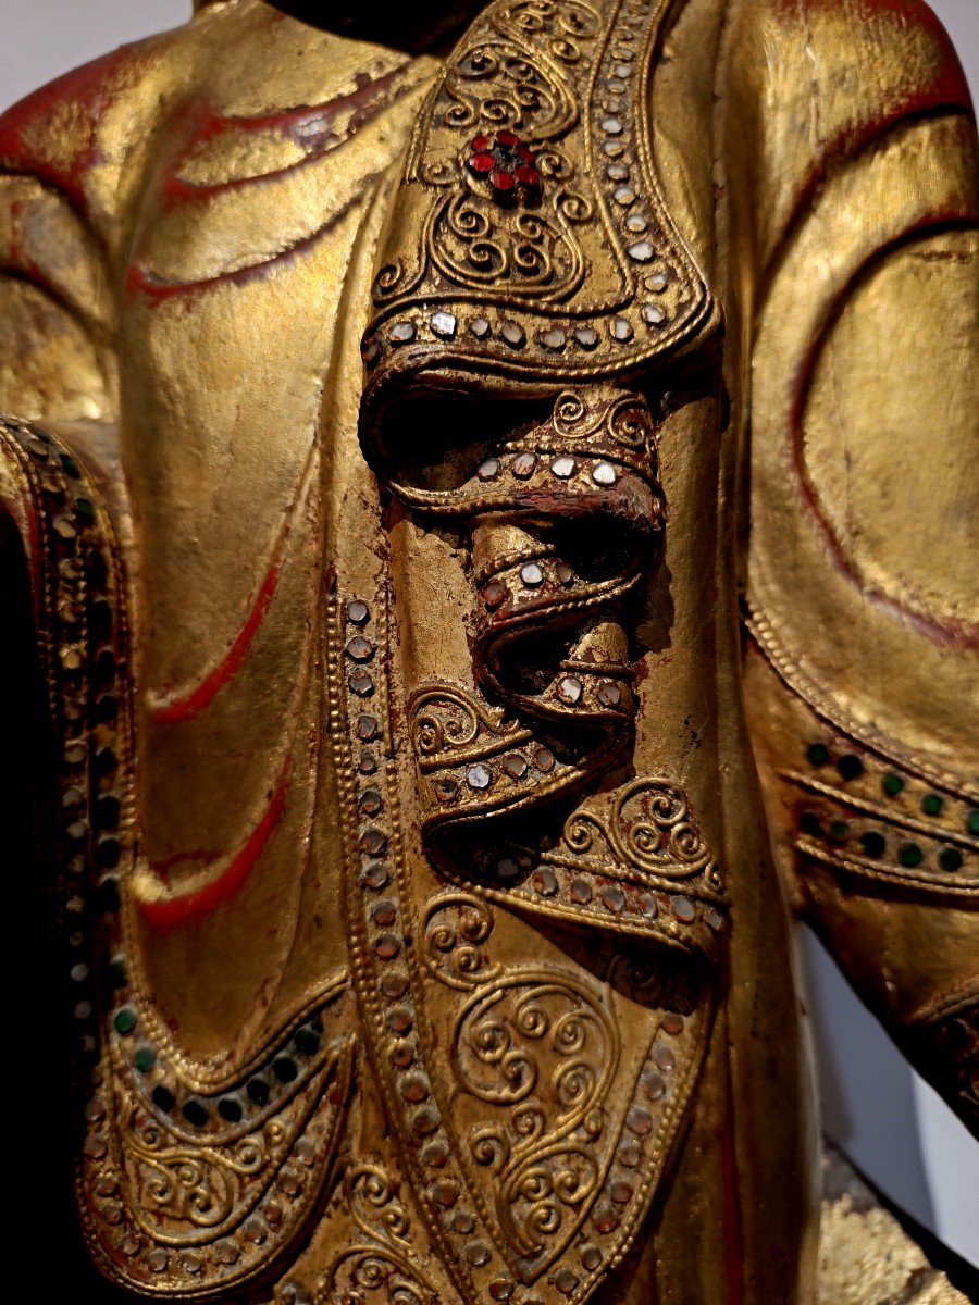
[[[589,800],[557,846],[546,838],[531,847],[493,833],[453,855],[437,837],[594,783],[628,746],[637,697],[625,636],[615,641],[615,655],[607,642],[600,655],[595,629],[615,620],[615,604],[658,561],[663,497],[647,402],[603,386],[565,390],[547,422],[505,441],[501,454],[459,488],[419,489],[397,478],[393,484],[420,517],[457,515],[474,531],[482,521],[525,517],[595,525],[586,576],[564,561],[546,534],[529,535],[522,552],[484,547],[474,561],[475,676],[487,698],[504,702],[505,710],[446,683],[424,684],[411,694],[429,855],[453,882],[495,900],[715,955],[726,911],[721,873],[687,795],[664,776]],[[602,542],[612,532],[615,560],[602,566]],[[574,633],[556,673],[542,675],[535,694],[526,689],[526,675],[514,686],[509,672],[522,641],[563,624]],[[606,641],[611,628],[603,628]],[[542,726],[546,737],[553,740],[560,727],[578,746],[546,744]],[[590,731],[585,745],[582,727]]]

